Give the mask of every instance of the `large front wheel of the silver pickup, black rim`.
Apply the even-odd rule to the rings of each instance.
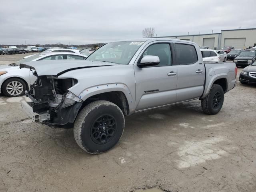
[[[76,143],[90,154],[110,150],[124,132],[124,114],[114,103],[95,101],[85,106],[74,123]]]

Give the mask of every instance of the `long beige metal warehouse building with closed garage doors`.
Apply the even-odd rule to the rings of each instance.
[[[256,28],[221,30],[221,33],[211,34],[164,36],[164,38],[192,41],[199,46],[208,46],[212,49],[220,49],[223,46],[244,49],[256,46]]]

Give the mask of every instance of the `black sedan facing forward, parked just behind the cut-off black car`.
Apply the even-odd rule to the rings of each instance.
[[[244,50],[242,51],[233,62],[236,63],[236,66],[248,66],[256,60],[256,51],[255,50]]]

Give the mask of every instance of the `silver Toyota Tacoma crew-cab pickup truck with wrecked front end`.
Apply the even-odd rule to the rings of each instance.
[[[201,100],[206,114],[222,108],[236,85],[234,63],[204,63],[197,44],[143,38],[110,42],[86,60],[20,64],[37,76],[22,102],[38,123],[74,123],[74,137],[88,153],[112,148],[124,131],[124,116]]]

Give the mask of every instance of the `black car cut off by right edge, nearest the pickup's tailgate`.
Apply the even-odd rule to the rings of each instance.
[[[256,62],[253,62],[242,70],[239,81],[242,84],[256,83]]]

